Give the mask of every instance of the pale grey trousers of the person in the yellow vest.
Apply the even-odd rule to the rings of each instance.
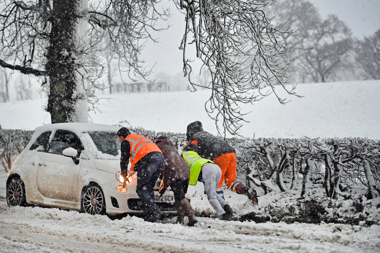
[[[222,170],[214,163],[206,163],[202,167],[202,182],[204,184],[204,191],[207,194],[211,206],[214,208],[217,215],[225,214],[223,206],[227,204],[221,196],[216,193],[220,178],[222,177]]]

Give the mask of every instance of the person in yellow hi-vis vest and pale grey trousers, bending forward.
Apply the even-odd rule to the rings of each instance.
[[[182,157],[190,167],[190,185],[195,185],[197,181],[204,184],[204,191],[207,199],[214,208],[220,220],[231,220],[233,211],[230,205],[216,193],[222,170],[212,160],[204,159],[194,151],[182,152]]]

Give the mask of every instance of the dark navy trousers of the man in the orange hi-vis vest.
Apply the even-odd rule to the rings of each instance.
[[[165,159],[161,153],[152,157],[143,157],[143,159],[137,172],[136,193],[142,202],[142,209],[150,213],[158,208],[154,203],[153,187],[164,167]]]

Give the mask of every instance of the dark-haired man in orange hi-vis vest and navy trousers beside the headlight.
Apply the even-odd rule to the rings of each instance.
[[[144,220],[156,222],[162,213],[154,202],[153,187],[164,167],[165,159],[162,152],[153,141],[141,135],[131,134],[126,127],[119,129],[117,138],[121,143],[120,169],[124,182],[137,172],[136,193],[146,214]]]

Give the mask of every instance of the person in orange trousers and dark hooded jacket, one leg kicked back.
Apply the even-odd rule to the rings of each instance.
[[[195,121],[187,126],[187,143],[183,151],[195,151],[201,157],[212,160],[222,170],[217,193],[224,198],[222,184],[238,194],[246,195],[254,205],[258,204],[256,191],[236,181],[235,149],[224,140],[203,130],[202,123]]]

